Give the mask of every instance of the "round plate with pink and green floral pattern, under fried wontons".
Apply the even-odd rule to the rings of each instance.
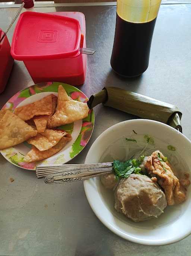
[[[47,82],[35,84],[25,88],[22,91],[19,91],[9,99],[9,101],[3,106],[2,109],[10,109],[10,111],[13,111],[18,106],[32,103],[47,96],[48,94],[53,93],[57,96],[58,86],[60,84],[63,86],[63,88],[65,88],[66,92],[73,100],[87,102],[88,98],[78,88],[60,82]],[[71,124],[59,126],[59,128],[70,133],[72,135],[72,140],[69,141],[61,151],[40,162],[23,162],[24,156],[31,149],[31,145],[26,141],[14,147],[1,150],[0,152],[13,165],[24,169],[35,170],[37,165],[64,164],[79,154],[85,145],[87,145],[94,128],[94,112],[93,110],[90,110],[88,117],[75,121]]]

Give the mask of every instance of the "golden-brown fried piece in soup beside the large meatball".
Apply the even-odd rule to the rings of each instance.
[[[167,204],[180,204],[186,200],[185,191],[181,189],[169,162],[164,162],[163,159],[163,154],[157,150],[148,157],[145,168],[151,176],[157,178],[159,185],[164,189]]]

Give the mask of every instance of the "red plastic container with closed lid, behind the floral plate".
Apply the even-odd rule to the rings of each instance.
[[[79,52],[85,47],[85,18],[82,13],[64,13],[24,12],[17,22],[11,54],[24,61],[35,83],[81,85],[85,81],[87,56]]]

